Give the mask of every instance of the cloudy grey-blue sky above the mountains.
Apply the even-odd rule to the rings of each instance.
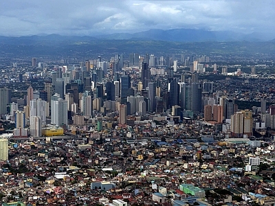
[[[275,32],[274,0],[2,0],[0,35],[91,35],[197,28]]]

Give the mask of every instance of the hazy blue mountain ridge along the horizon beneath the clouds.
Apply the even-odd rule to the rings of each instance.
[[[96,41],[96,40],[131,40],[131,41],[170,41],[179,43],[190,42],[233,42],[233,41],[272,41],[272,36],[261,32],[242,34],[238,32],[213,32],[207,30],[174,29],[174,30],[147,30],[144,32],[95,34],[94,36],[61,36],[59,34],[38,34],[33,36],[0,36],[0,43],[24,43],[28,45],[34,42],[64,42],[64,41]],[[273,40],[274,41],[274,40]]]

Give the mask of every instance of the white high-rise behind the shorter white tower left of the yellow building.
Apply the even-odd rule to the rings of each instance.
[[[31,100],[30,101],[30,117],[40,117],[41,124],[46,124],[46,117],[49,115],[49,104],[45,100]]]

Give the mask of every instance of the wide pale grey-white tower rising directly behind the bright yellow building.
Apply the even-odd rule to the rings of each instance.
[[[68,124],[67,100],[60,98],[58,94],[54,94],[51,100],[51,123],[57,126]]]

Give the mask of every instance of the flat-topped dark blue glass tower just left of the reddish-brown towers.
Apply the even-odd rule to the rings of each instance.
[[[201,112],[201,83],[192,82],[191,84],[191,110],[193,112]]]

